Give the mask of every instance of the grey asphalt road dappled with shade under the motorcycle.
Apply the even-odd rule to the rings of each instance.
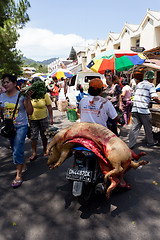
[[[55,126],[71,124],[66,114],[54,111]],[[121,129],[121,138],[128,141],[128,129]],[[158,240],[160,239],[160,146],[145,148],[141,131],[135,152],[147,151],[143,159],[150,163],[126,174],[132,190],[95,198],[82,207],[71,195],[71,185],[65,179],[72,159],[50,171],[47,158],[30,163],[24,182],[13,189],[15,176],[12,153],[7,140],[0,138],[0,240]],[[25,157],[31,155],[29,140]]]

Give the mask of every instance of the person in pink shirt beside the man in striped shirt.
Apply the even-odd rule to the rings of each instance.
[[[129,83],[128,83],[127,79],[123,79],[121,81],[121,84],[123,85],[122,93],[121,93],[122,112],[123,112],[125,124],[127,125],[128,122],[129,122],[129,113],[131,111],[131,105],[132,105],[132,102],[131,102],[132,89],[129,86]]]

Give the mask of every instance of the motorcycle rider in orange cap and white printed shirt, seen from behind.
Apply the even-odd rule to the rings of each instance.
[[[119,121],[117,112],[112,103],[101,97],[103,82],[94,78],[89,82],[89,96],[83,98],[79,104],[80,121],[93,122],[107,127],[108,117]]]

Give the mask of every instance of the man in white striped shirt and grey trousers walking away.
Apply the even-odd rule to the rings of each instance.
[[[151,99],[160,103],[153,84],[154,71],[147,71],[144,80],[137,84],[135,89],[133,107],[132,107],[132,122],[129,133],[129,147],[133,148],[136,144],[139,131],[144,126],[145,135],[147,139],[147,146],[152,147],[158,144],[154,141],[152,134],[152,116],[149,111],[149,102]]]

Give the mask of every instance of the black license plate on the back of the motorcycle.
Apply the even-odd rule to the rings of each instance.
[[[66,178],[77,181],[91,182],[92,171],[68,168]]]

